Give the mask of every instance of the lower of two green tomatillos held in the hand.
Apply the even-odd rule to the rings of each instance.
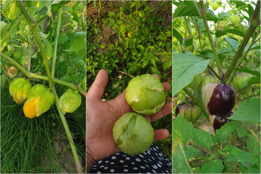
[[[138,155],[149,149],[154,131],[150,122],[140,114],[125,113],[113,127],[113,139],[128,155]]]

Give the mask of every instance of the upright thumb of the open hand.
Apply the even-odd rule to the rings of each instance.
[[[106,70],[101,69],[97,74],[94,82],[92,83],[89,91],[86,94],[86,98],[98,98],[101,99],[104,89],[108,82],[108,73]]]

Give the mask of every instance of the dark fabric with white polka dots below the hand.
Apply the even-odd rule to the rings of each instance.
[[[172,173],[172,164],[152,143],[152,146],[140,155],[130,156],[120,151],[97,161],[89,173]]]

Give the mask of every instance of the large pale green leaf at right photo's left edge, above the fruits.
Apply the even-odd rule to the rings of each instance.
[[[173,54],[172,96],[176,95],[194,78],[194,75],[202,73],[208,66],[209,60],[203,60],[196,55]]]

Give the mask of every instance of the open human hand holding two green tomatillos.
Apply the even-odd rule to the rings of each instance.
[[[155,75],[159,78],[158,75]],[[86,151],[87,172],[91,170],[96,161],[120,151],[113,139],[113,126],[125,113],[134,112],[125,98],[126,89],[110,101],[101,101],[104,89],[108,82],[106,70],[100,70],[95,81],[86,95]],[[163,82],[165,92],[170,90],[170,84]],[[172,104],[167,103],[158,112],[145,116],[149,122],[154,122],[172,112]],[[167,129],[154,131],[154,141],[165,139],[169,136]]]

